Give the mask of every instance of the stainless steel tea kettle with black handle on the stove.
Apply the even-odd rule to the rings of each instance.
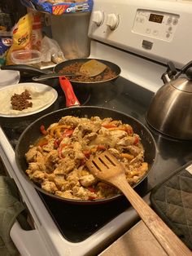
[[[192,139],[192,61],[179,73],[174,64],[168,62],[167,71],[161,78],[164,86],[151,100],[146,121],[164,135]]]

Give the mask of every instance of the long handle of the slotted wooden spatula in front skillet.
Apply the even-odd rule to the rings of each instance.
[[[159,218],[155,211],[142,200],[142,197],[131,188],[126,179],[124,179],[124,175],[119,175],[116,179],[110,180],[110,182],[124,193],[124,196],[127,197],[133,208],[137,210],[137,214],[142,218],[146,227],[149,228],[168,255],[192,255],[190,249]]]

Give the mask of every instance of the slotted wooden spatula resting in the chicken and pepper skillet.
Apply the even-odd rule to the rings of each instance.
[[[86,166],[98,179],[111,183],[124,193],[124,196],[127,197],[133,208],[137,210],[137,214],[142,218],[146,227],[149,228],[168,255],[191,255],[190,249],[155,214],[155,211],[142,200],[142,197],[131,188],[124,174],[124,166],[120,164],[116,157],[112,156],[110,152],[105,151],[97,157],[90,158],[86,162]]]

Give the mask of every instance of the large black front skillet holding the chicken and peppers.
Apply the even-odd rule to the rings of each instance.
[[[111,117],[113,119],[121,120],[124,123],[127,123],[133,126],[134,132],[140,135],[142,139],[142,144],[145,148],[145,161],[148,162],[149,164],[149,170],[142,177],[142,179],[134,185],[134,187],[137,187],[139,183],[142,183],[142,181],[146,179],[146,176],[149,174],[149,171],[151,170],[151,167],[153,166],[155,162],[155,157],[156,157],[155,139],[151,135],[151,132],[146,128],[146,126],[142,125],[142,123],[140,121],[137,121],[137,119],[130,117],[125,113],[112,110],[110,108],[83,106],[83,107],[63,108],[58,111],[46,114],[45,116],[42,116],[38,118],[36,121],[34,121],[30,126],[28,126],[26,130],[24,130],[23,134],[20,135],[20,139],[15,148],[16,163],[20,169],[21,174],[24,175],[24,179],[26,179],[28,183],[30,183],[34,188],[46,194],[47,196],[51,196],[52,198],[55,198],[57,200],[70,202],[72,204],[81,204],[81,205],[105,203],[105,202],[120,198],[121,196],[121,195],[113,196],[111,198],[96,200],[96,201],[81,201],[81,200],[72,200],[72,199],[62,198],[59,196],[55,196],[49,192],[46,192],[45,190],[40,188],[38,184],[33,183],[33,181],[31,181],[28,178],[28,175],[25,174],[25,170],[28,169],[28,164],[25,161],[24,155],[26,152],[28,152],[29,146],[31,144],[34,144],[37,141],[37,139],[40,138],[41,136],[40,126],[44,125],[47,128],[48,126],[50,126],[50,124],[59,121],[61,117],[64,117],[67,115],[75,116],[75,117],[92,117],[92,116],[98,116],[101,118]]]

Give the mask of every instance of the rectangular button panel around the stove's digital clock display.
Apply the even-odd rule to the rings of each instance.
[[[164,41],[171,41],[180,15],[138,9],[133,23],[133,33]]]

